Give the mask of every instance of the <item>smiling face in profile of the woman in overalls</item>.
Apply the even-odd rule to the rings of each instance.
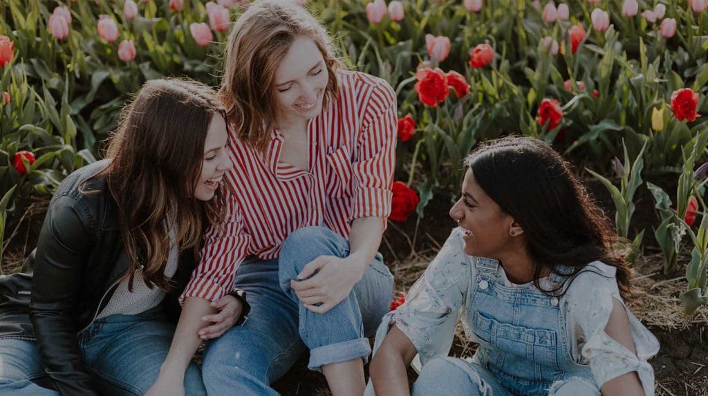
[[[468,255],[501,260],[513,236],[523,231],[479,187],[471,169],[464,174],[462,197],[450,209],[450,216],[464,228],[464,252]]]

